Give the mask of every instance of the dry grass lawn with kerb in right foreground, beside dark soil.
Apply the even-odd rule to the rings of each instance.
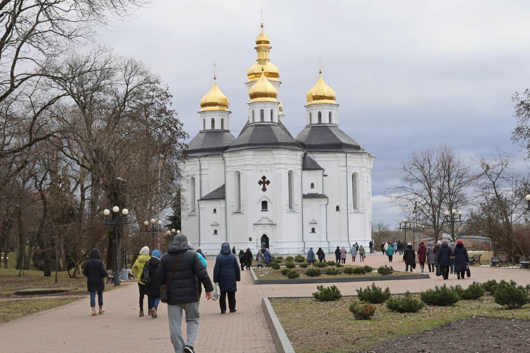
[[[330,302],[271,298],[271,303],[296,353],[357,352],[375,343],[432,330],[470,316],[530,318],[530,305],[507,310],[495,304],[492,296],[483,296],[478,300],[461,300],[453,306],[425,306],[417,313],[395,313],[384,303],[374,304],[377,311],[373,319],[364,321],[356,320],[348,310],[355,300],[356,297]]]

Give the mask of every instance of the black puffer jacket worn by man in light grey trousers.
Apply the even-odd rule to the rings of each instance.
[[[182,256],[181,256],[182,254]],[[156,270],[158,283],[166,284],[171,276],[173,265],[180,257],[175,273],[168,288],[167,304],[183,304],[197,302],[199,293],[197,292],[197,280],[204,285],[206,292],[214,290],[206,267],[197,256],[197,252],[191,250],[188,245],[188,238],[184,234],[176,234],[173,242],[167,248],[167,252],[162,255],[160,265]]]

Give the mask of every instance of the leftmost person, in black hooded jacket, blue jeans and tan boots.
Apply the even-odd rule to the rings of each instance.
[[[94,248],[90,250],[90,259],[86,261],[83,275],[86,277],[86,289],[90,293],[90,306],[92,307],[92,316],[96,315],[96,293],[98,293],[98,305],[100,315],[105,312],[103,309],[103,291],[105,290],[105,281],[107,270],[101,261],[99,250]]]

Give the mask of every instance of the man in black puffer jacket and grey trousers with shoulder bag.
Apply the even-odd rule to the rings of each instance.
[[[205,288],[206,298],[211,298],[214,286],[206,272],[206,267],[201,263],[197,252],[191,250],[188,238],[184,234],[176,234],[173,242],[162,256],[160,265],[156,270],[158,283],[167,284],[173,270],[175,261],[179,261],[175,273],[167,290],[167,316],[171,343],[175,352],[195,353],[193,344],[199,330],[199,294],[197,293],[197,280]],[[184,345],[182,338],[182,310],[186,312],[187,340]]]

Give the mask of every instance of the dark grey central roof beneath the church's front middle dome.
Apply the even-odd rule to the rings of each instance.
[[[278,124],[245,124],[227,152],[249,149],[301,150],[293,136],[281,122]]]

